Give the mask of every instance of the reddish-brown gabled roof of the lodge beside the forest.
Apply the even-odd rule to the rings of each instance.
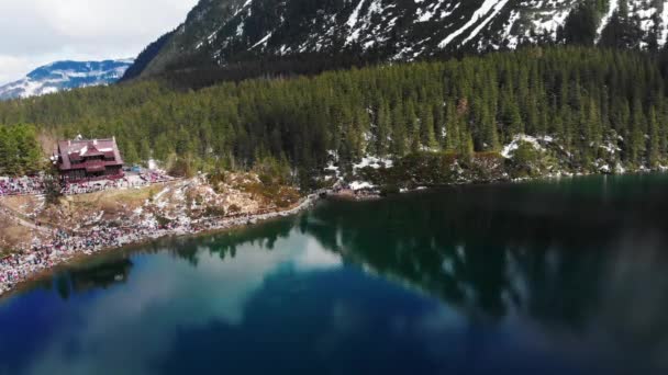
[[[108,139],[75,139],[58,143],[60,170],[71,169],[87,158],[103,156],[105,166],[122,166],[123,159],[115,138]]]

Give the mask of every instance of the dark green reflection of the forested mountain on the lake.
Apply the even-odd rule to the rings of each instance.
[[[666,178],[611,180],[457,188],[364,208],[337,202],[302,228],[472,319],[531,318],[641,359],[634,366],[668,370]]]

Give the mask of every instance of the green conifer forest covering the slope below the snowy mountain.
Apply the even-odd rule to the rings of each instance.
[[[116,136],[130,162],[178,156],[243,168],[272,156],[322,170],[332,156],[498,152],[552,136],[568,162],[666,160],[666,72],[648,54],[532,47],[444,63],[180,92],[146,81],[0,103],[0,123],[71,137]]]

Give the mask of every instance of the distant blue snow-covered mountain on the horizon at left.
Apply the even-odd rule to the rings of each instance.
[[[133,59],[53,63],[31,71],[15,82],[1,86],[0,100],[110,84],[118,81],[133,63]]]

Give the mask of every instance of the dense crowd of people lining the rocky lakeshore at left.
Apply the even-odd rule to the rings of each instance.
[[[310,195],[292,209],[256,215],[248,214],[200,220],[177,219],[164,225],[154,220],[123,227],[98,226],[84,232],[68,232],[56,229],[49,241],[35,241],[30,249],[0,259],[0,295],[11,291],[16,284],[34,277],[40,272],[78,255],[92,254],[104,249],[165,236],[221,230],[255,224],[272,217],[288,216],[309,207],[315,200],[318,200],[318,194]]]

